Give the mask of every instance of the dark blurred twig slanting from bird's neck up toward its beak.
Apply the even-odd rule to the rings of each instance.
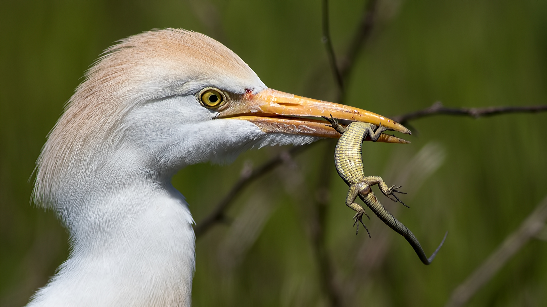
[[[241,193],[241,191],[246,188],[254,180],[264,176],[270,170],[273,170],[283,162],[285,162],[288,155],[298,155],[300,152],[305,151],[308,146],[295,146],[288,151],[283,151],[270,160],[263,163],[261,166],[255,169],[250,169],[248,171],[243,171],[240,175],[239,180],[232,186],[228,194],[224,196],[223,199],[218,202],[214,210],[205,217],[198,225],[194,227],[194,233],[196,238],[199,238],[202,234],[207,232],[211,227],[216,223],[222,222],[225,219],[225,211],[228,209],[231,202]]]

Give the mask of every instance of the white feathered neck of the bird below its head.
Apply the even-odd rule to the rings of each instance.
[[[168,180],[92,190],[61,212],[71,255],[28,306],[189,306],[195,237],[182,194]]]

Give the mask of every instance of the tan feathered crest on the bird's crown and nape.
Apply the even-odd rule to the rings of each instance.
[[[231,92],[262,84],[234,52],[200,33],[158,29],[120,40],[86,72],[51,130],[37,161],[34,199],[47,203],[61,177],[86,172],[91,156],[117,141],[114,132],[131,108],[209,83],[235,85],[225,88]]]

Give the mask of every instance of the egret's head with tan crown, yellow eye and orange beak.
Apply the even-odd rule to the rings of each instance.
[[[203,34],[160,29],[121,40],[88,70],[37,162],[39,203],[231,160],[266,145],[339,137],[321,116],[410,133],[369,111],[267,88]]]

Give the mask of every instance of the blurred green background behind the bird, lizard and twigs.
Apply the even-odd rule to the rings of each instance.
[[[377,27],[348,84],[346,103],[386,116],[425,108],[547,103],[547,1],[380,0]],[[331,35],[345,52],[365,2],[333,1]],[[24,305],[68,255],[53,212],[30,204],[45,137],[84,71],[115,40],[152,28],[202,32],[234,50],[265,84],[331,100],[335,86],[321,43],[318,0],[2,0],[0,80],[0,304]],[[408,145],[365,144],[365,169],[403,185],[411,209],[381,201],[433,251],[426,267],[375,216],[372,239],[354,234],[347,186],[325,169],[325,141],[254,182],[230,223],[197,241],[195,306],[326,306],[313,254],[310,212],[330,174],[327,250],[344,305],[440,306],[547,194],[547,114],[410,122]],[[543,127],[543,128],[542,128]],[[196,221],[244,165],[283,150],[247,152],[229,166],[181,170],[173,185]],[[202,193],[208,182],[216,193]],[[377,191],[377,190],[376,190]],[[376,193],[378,194],[378,193]],[[532,240],[470,306],[547,302],[547,243]]]

